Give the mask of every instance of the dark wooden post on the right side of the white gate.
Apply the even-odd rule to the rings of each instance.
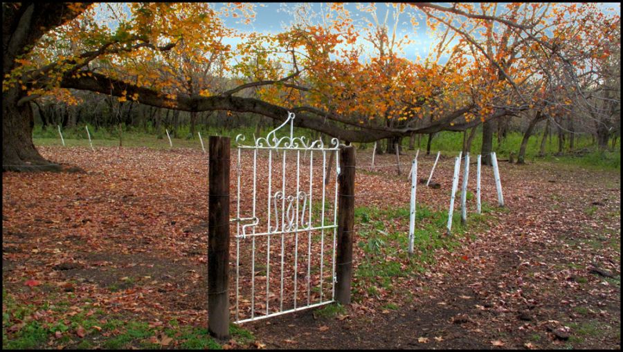
[[[335,299],[350,304],[352,279],[352,228],[354,225],[355,149],[352,145],[340,149],[338,231],[336,248]]]

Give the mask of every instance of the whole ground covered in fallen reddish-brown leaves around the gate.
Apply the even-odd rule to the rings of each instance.
[[[39,149],[86,173],[3,173],[3,348],[219,347],[205,334],[206,155]],[[252,335],[235,329],[221,346],[620,348],[618,172],[500,161],[506,207],[496,207],[484,167],[478,215],[471,165],[468,223],[455,211],[453,232],[444,234],[453,158],[442,157],[433,177],[441,187],[417,188],[415,255],[408,257],[408,159],[401,156],[403,175],[396,176],[393,166],[370,171],[370,151],[358,152],[354,304],[246,323]],[[434,157],[419,159],[426,177]],[[245,160],[248,185],[252,158]],[[376,158],[393,163],[395,156]],[[273,180],[280,167],[276,173]],[[258,192],[266,194],[265,186]],[[250,207],[241,204],[243,212]],[[278,291],[268,276],[272,308]],[[258,296],[256,312],[265,299]]]

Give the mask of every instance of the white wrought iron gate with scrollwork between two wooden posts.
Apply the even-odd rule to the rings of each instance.
[[[294,118],[253,145],[236,138],[237,324],[334,302],[340,145],[294,138]],[[289,136],[278,138],[288,123]]]

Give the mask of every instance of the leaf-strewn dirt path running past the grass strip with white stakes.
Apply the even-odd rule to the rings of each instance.
[[[434,279],[414,284],[413,304],[386,313],[350,307],[343,320],[307,311],[245,327],[284,349],[620,349],[617,175],[536,165],[508,172],[510,212],[464,248],[468,260],[449,259]]]

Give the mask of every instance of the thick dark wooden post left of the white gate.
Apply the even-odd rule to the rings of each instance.
[[[208,331],[229,337],[229,137],[210,136],[208,179]]]

